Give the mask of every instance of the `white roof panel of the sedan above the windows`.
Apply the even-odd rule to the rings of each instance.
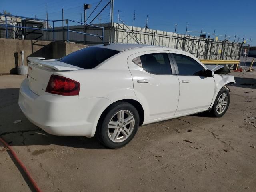
[[[124,44],[124,43],[111,43],[107,45],[96,45],[97,47],[102,47],[106,49],[112,49],[116,51],[125,51],[129,49],[135,49],[135,48],[167,48],[164,46],[156,46],[156,45],[145,45],[145,44]],[[171,48],[170,48],[171,49]]]

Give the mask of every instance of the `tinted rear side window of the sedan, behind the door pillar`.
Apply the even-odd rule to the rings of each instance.
[[[167,53],[152,53],[138,56],[132,60],[146,72],[158,75],[172,74]]]

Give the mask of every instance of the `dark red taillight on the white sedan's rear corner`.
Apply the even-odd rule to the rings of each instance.
[[[78,95],[80,83],[58,75],[51,75],[46,92],[58,95]]]

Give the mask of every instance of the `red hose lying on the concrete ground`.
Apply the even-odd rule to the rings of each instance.
[[[12,149],[12,147],[10,145],[8,145],[8,143],[6,143],[1,137],[0,137],[0,141],[9,148],[10,152],[12,153],[12,155],[14,156],[15,160],[18,162],[18,164],[20,165],[20,167],[23,169],[23,171],[26,173],[26,175],[28,176],[28,179],[30,180],[31,184],[34,186],[35,190],[37,192],[42,192],[42,190],[40,190],[40,188],[38,187],[38,185],[36,184],[35,180],[32,178],[32,176],[30,175],[30,172],[28,171],[28,169],[25,167],[25,165],[21,162],[21,160],[18,158],[18,156],[16,155],[16,153],[14,152],[14,150]]]

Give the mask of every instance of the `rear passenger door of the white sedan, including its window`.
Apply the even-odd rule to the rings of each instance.
[[[141,52],[129,56],[127,61],[136,100],[144,108],[144,124],[174,116],[179,81],[168,51]]]

